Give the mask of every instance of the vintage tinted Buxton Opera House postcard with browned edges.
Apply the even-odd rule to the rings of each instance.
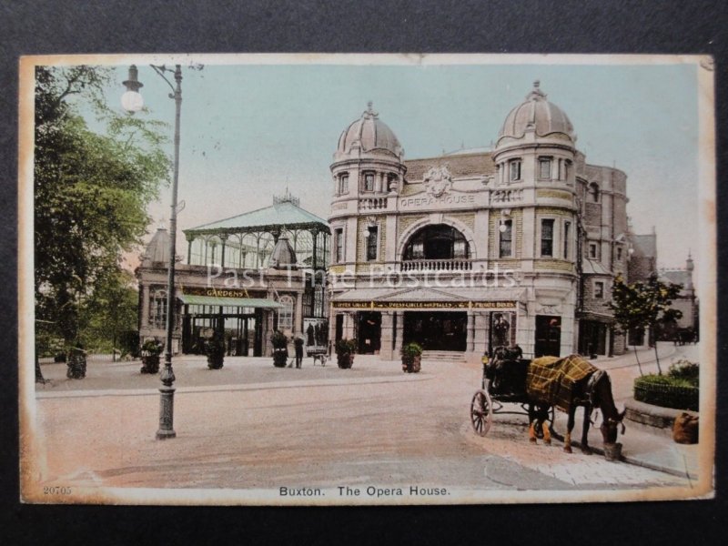
[[[714,495],[709,56],[25,56],[21,501]]]

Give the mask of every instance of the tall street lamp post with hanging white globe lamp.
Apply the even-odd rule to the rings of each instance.
[[[173,93],[169,94],[169,98],[175,100],[175,158],[172,175],[172,206],[169,216],[169,268],[167,271],[167,342],[165,344],[165,366],[160,374],[162,386],[159,388],[159,430],[157,430],[157,440],[167,440],[177,436],[174,429],[175,388],[172,385],[175,382],[175,372],[172,369],[172,337],[175,330],[177,184],[179,180],[179,112],[182,106],[182,68],[179,65],[176,65],[174,70],[164,65],[151,65],[151,67],[172,88]],[[175,86],[165,76],[166,72],[174,74]],[[142,87],[142,84],[138,81],[136,66],[129,66],[129,79],[124,82],[124,86],[126,86],[126,93],[121,97],[122,106],[127,112],[138,112],[144,106],[144,101],[139,94],[139,88]]]

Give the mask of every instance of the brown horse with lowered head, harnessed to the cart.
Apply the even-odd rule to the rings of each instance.
[[[578,359],[579,357],[571,355],[568,358]],[[554,357],[551,357],[551,359],[554,359]],[[532,371],[531,366],[537,360],[539,359],[531,362],[530,372]],[[589,366],[592,370],[580,379],[574,381],[571,386],[571,403],[566,408],[568,414],[567,430],[563,439],[563,450],[567,453],[572,452],[571,431],[576,421],[576,409],[579,407],[584,409],[581,430],[581,451],[583,453],[591,453],[588,435],[591,425],[591,412],[595,409],[599,409],[602,412],[600,432],[602,433],[602,440],[605,444],[616,442],[620,426],[622,427],[622,434],[624,434],[624,423],[622,421],[626,409],[620,412],[614,404],[612,380],[609,374],[603,369],[594,369],[591,365]],[[546,426],[546,420],[548,419],[549,410],[555,405],[557,405],[555,399],[529,396],[529,408],[533,409],[532,414],[531,410],[529,411],[529,419],[531,420],[529,425],[529,440],[531,443],[536,442],[537,434],[540,430],[542,430],[544,443],[551,443],[551,434],[549,428]]]

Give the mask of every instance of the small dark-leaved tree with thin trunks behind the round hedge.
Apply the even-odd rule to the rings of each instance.
[[[626,284],[621,276],[614,279],[612,301],[607,304],[614,313],[614,320],[627,335],[633,329],[654,329],[682,317],[682,311],[671,308],[672,299],[677,298],[682,285],[664,283],[652,275],[647,282],[637,281]],[[634,348],[635,357],[637,348]],[[662,375],[657,343],[654,344],[657,370]],[[639,364],[639,358],[637,360]],[[640,367],[642,375],[642,367]]]

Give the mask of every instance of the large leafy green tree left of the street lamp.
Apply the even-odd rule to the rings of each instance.
[[[147,205],[169,178],[164,124],[106,106],[110,82],[103,67],[35,71],[35,313],[66,349],[83,342],[102,292],[126,282],[121,257],[141,242]]]

